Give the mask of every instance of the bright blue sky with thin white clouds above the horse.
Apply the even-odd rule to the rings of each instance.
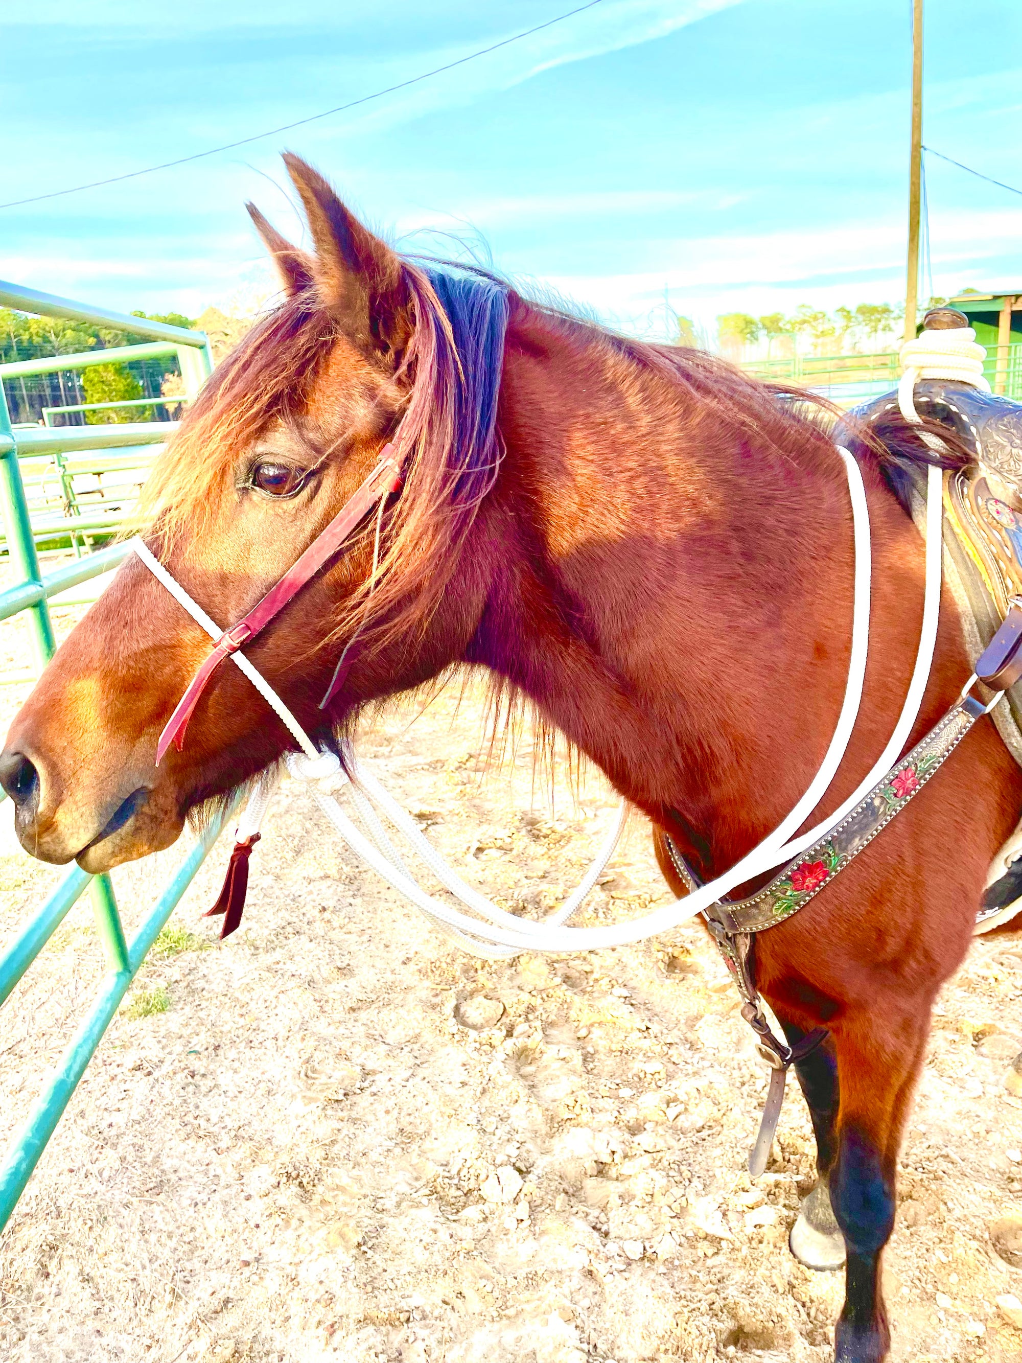
[[[356,99],[571,0],[5,0],[0,199]],[[407,249],[471,243],[645,334],[903,296],[910,0],[602,0],[410,90],[236,151],[0,211],[0,275],[196,312],[271,289],[313,161]],[[924,140],[1022,188],[1022,4],[927,0]],[[928,159],[924,296],[1022,290],[1022,196]]]

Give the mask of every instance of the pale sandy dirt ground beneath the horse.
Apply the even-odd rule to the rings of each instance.
[[[69,615],[61,616],[65,624]],[[23,623],[0,669],[25,665]],[[0,729],[27,687],[0,692]],[[615,812],[525,739],[485,770],[481,706],[444,694],[360,752],[467,879],[534,912]],[[414,718],[414,724],[412,720]],[[59,880],[0,807],[0,940]],[[830,1359],[839,1274],[786,1249],[814,1146],[789,1093],[770,1171],[744,1161],[766,1071],[690,925],[585,958],[462,955],[342,853],[285,781],[241,930],[200,871],[0,1239],[8,1363],[651,1363]],[[138,923],[181,849],[114,872]],[[660,902],[634,819],[589,921]],[[5,1142],[102,972],[87,898],[0,1022]],[[467,1025],[473,1024],[473,1025]],[[1022,1359],[991,1227],[1022,1212],[1022,935],[943,992],[887,1254],[894,1356]],[[995,1227],[996,1229],[996,1227]],[[1022,1246],[1022,1240],[1019,1242]]]

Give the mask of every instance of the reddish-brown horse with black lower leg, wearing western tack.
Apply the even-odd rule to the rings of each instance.
[[[852,514],[827,435],[706,354],[623,339],[485,278],[440,288],[309,166],[288,166],[313,249],[252,210],[285,298],[218,368],[155,470],[154,552],[229,624],[398,439],[406,483],[380,512],[379,545],[371,518],[249,646],[256,667],[334,743],[368,702],[459,664],[489,669],[606,773],[655,840],[669,834],[706,876],[726,870],[796,804],[843,695]],[[871,654],[852,746],[815,818],[887,741],[923,613],[920,537],[882,458],[858,457]],[[128,559],[11,728],[0,766],[29,852],[105,871],[168,846],[189,811],[281,756],[286,731],[225,667],[183,751],[155,765],[207,653]],[[946,594],[912,743],[970,672]],[[1022,773],[981,721],[880,838],[758,939],[759,984],[789,1039],[829,1032],[799,1077],[846,1244],[845,1363],[888,1349],[880,1254],[931,1006],[1019,808]]]

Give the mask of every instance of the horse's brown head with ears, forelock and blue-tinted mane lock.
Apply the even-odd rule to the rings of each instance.
[[[471,631],[478,601],[465,583],[447,589],[496,474],[507,296],[484,279],[431,278],[367,230],[322,176],[296,157],[286,162],[312,249],[293,247],[249,206],[282,301],[208,380],[154,468],[140,514],[151,552],[226,628],[394,442],[401,495],[384,499],[247,649],[307,732],[327,740],[368,701],[440,672]],[[482,337],[471,367],[459,322]],[[129,556],[57,650],[0,758],[26,851],[98,872],[169,846],[189,811],[292,746],[237,668],[223,667],[183,750],[157,759],[159,733],[208,650],[206,634]]]

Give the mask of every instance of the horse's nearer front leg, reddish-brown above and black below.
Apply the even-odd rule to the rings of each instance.
[[[834,1341],[837,1363],[879,1363],[890,1330],[880,1291],[880,1255],[894,1228],[895,1169],[927,1020],[856,1017],[837,1029],[839,1104],[830,1202],[845,1236],[845,1306]]]

